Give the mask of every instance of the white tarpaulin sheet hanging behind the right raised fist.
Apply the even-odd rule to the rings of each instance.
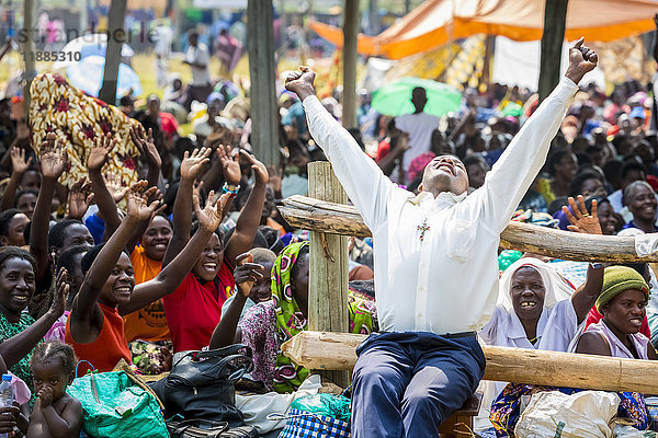
[[[569,65],[569,47],[572,45],[574,43],[563,45],[560,69],[563,74]],[[541,51],[542,44],[538,41],[520,43],[504,36],[497,36],[491,81],[537,90]],[[582,84],[590,82],[595,82],[597,85],[605,89],[605,78],[601,69],[595,68],[587,73]]]

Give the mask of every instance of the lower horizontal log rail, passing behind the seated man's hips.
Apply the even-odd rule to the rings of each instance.
[[[365,335],[302,332],[281,346],[309,369],[352,369]],[[602,391],[658,393],[658,361],[483,346],[485,379]]]

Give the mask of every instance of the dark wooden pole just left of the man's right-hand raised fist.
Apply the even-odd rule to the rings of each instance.
[[[544,33],[540,61],[540,102],[551,94],[559,82],[561,47],[565,39],[567,4],[569,0],[547,0],[544,8]]]

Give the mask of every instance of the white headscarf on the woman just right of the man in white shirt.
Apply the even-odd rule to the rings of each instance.
[[[544,296],[545,309],[551,309],[557,302],[569,299],[574,295],[574,286],[559,275],[551,264],[533,257],[520,258],[506,269],[498,286],[498,306],[502,306],[508,312],[514,311],[511,297],[512,275],[524,266],[535,268],[542,276],[544,289],[546,290]]]

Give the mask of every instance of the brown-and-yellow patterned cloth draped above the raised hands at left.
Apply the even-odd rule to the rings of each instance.
[[[99,135],[112,134],[117,139],[115,149],[104,172],[121,176],[122,185],[137,181],[134,158],[138,150],[128,129],[138,123],[117,107],[92,97],[70,85],[55,73],[43,73],[32,81],[30,88],[30,123],[32,145],[38,152],[46,134],[66,136],[69,165],[59,183],[70,187],[87,175],[87,157]]]

